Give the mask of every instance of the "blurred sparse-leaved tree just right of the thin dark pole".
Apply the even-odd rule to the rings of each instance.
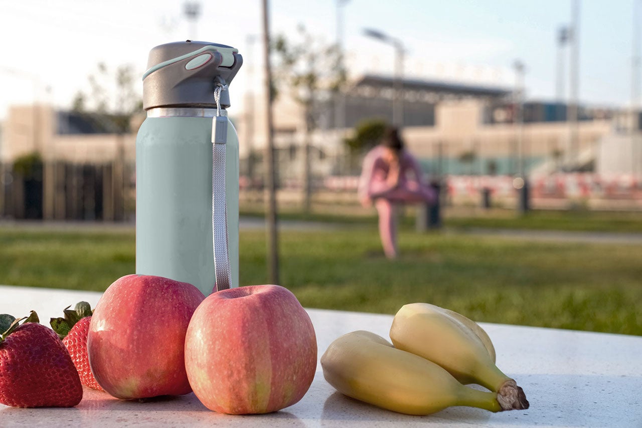
[[[311,201],[311,133],[318,128],[322,105],[328,103],[345,81],[342,53],[336,44],[325,44],[300,25],[293,42],[284,35],[276,37],[274,96],[289,88],[290,96],[304,114],[303,208],[310,210]]]

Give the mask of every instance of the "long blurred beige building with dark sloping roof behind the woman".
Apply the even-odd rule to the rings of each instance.
[[[526,172],[600,171],[631,172],[632,161],[606,162],[605,155],[620,150],[615,141],[639,130],[630,115],[609,108],[580,107],[577,140],[571,145],[571,126],[566,105],[528,101],[523,110],[523,128],[517,124],[514,94],[505,87],[464,85],[429,80],[403,82],[403,136],[408,148],[431,173],[440,175],[514,175],[518,171],[518,139],[523,138]],[[338,121],[336,99],[327,96],[315,106],[318,127],[311,135],[313,173],[354,175],[345,165],[343,139],[366,119],[392,121],[394,80],[364,75],[351,81],[343,98],[343,117]],[[263,102],[256,102],[236,118],[241,139],[242,166],[254,155],[261,157],[265,146]],[[254,108],[252,107],[254,106]],[[281,182],[297,180],[302,174],[302,146],[306,138],[304,112],[287,96],[274,105],[275,146]],[[340,123],[339,123],[340,122]],[[248,129],[252,132],[248,133]],[[612,158],[612,157],[611,157]],[[251,168],[262,176],[259,166]],[[247,167],[242,171],[247,172]],[[642,171],[641,171],[642,172]]]

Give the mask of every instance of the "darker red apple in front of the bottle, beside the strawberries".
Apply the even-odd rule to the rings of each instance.
[[[185,333],[204,298],[192,284],[169,278],[117,279],[89,324],[87,354],[98,384],[124,399],[190,393]]]

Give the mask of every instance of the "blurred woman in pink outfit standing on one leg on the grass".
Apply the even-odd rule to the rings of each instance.
[[[417,160],[404,149],[397,128],[386,130],[381,143],[363,159],[359,180],[359,200],[379,213],[379,235],[388,259],[397,257],[395,205],[435,203],[437,193],[424,184]]]

